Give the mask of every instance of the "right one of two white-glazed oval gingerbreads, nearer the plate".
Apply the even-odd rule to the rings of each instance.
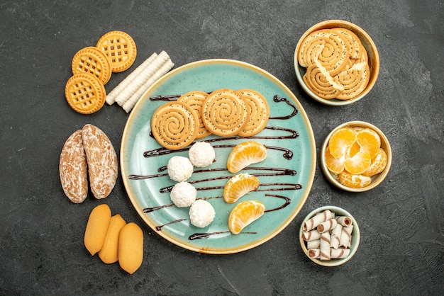
[[[94,125],[83,127],[82,141],[87,155],[91,191],[97,199],[106,198],[117,181],[116,151],[105,133]]]

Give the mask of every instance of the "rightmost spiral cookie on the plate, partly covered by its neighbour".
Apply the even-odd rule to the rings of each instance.
[[[247,103],[248,122],[238,135],[240,137],[251,137],[261,132],[270,118],[270,108],[267,100],[261,93],[252,89],[240,89],[243,101]]]

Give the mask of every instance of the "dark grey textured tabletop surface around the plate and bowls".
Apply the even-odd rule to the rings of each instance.
[[[93,4],[91,4],[93,2]],[[367,30],[381,59],[363,100],[322,106],[294,75],[300,36],[327,19]],[[255,64],[291,89],[309,115],[317,147],[349,120],[377,125],[392,144],[381,186],[366,193],[333,188],[319,166],[292,224],[255,249],[225,256],[187,251],[138,217],[119,176],[104,201],[65,197],[62,145],[86,123],[101,127],[117,152],[128,115],[104,106],[75,113],[65,83],[77,50],[109,30],[138,47],[135,67],[165,50],[177,66],[228,58]],[[438,295],[444,290],[444,4],[357,1],[0,1],[0,294],[4,295]],[[113,74],[111,91],[130,71]],[[319,151],[319,149],[318,149]],[[110,205],[143,227],[143,265],[133,275],[91,258],[83,246],[91,209]],[[308,212],[337,205],[360,224],[361,244],[343,266],[323,268],[301,251]]]

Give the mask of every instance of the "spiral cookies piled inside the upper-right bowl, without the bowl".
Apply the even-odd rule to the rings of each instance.
[[[370,80],[367,51],[346,28],[316,30],[301,42],[298,62],[306,67],[304,83],[316,96],[349,100]]]

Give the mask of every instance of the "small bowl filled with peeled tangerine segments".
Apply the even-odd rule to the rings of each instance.
[[[334,186],[351,192],[378,186],[391,164],[389,140],[379,128],[363,121],[338,125],[321,147],[324,175]]]

